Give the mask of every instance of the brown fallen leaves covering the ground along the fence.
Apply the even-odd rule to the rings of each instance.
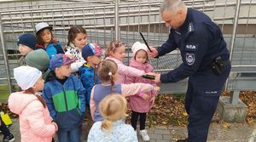
[[[222,95],[230,95],[224,92]],[[253,118],[256,117],[256,92],[243,91],[240,94],[240,99],[248,106],[247,110],[247,123],[252,123]],[[0,104],[0,109],[5,113],[9,113],[11,117],[17,115],[11,113],[7,104]],[[131,111],[127,111],[131,114]],[[215,118],[214,118],[215,117]],[[215,114],[213,121],[220,122],[223,128],[230,128],[230,124],[219,120],[218,115]],[[214,120],[216,119],[217,120]],[[131,115],[127,116],[126,122],[130,123]],[[147,115],[147,126],[154,128],[156,125],[164,126],[186,126],[188,123],[188,114],[184,109],[184,94],[161,94],[155,99],[154,107]]]

